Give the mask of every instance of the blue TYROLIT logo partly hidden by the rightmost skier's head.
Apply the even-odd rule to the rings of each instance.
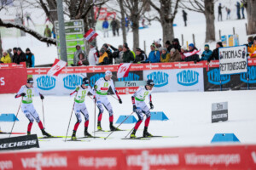
[[[162,72],[162,71],[152,72],[147,77],[148,79],[151,79],[154,81],[155,88],[160,88],[168,84],[169,75],[166,72]]]

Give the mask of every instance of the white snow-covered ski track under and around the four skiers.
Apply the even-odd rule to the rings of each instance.
[[[215,133],[235,133],[241,144],[256,143],[256,114],[254,98],[256,91],[225,91],[225,92],[186,92],[186,93],[158,93],[153,94],[154,111],[164,111],[169,121],[151,121],[148,131],[154,135],[178,136],[177,138],[150,140],[123,140],[126,132],[114,132],[109,139],[85,139],[84,142],[64,142],[64,139],[44,139],[39,141],[40,148],[32,150],[80,150],[80,149],[110,149],[110,148],[148,148],[173,146],[201,146],[212,145],[210,142]],[[131,95],[121,95],[123,104],[108,97],[113,105],[114,122],[120,115],[131,114]],[[211,122],[212,103],[229,102],[229,121]],[[36,110],[43,121],[42,103],[38,97],[33,101]],[[0,94],[0,112],[15,113],[20,105],[20,99],[14,99],[14,94]],[[86,97],[86,105],[90,113],[89,132],[93,131],[94,104]],[[69,122],[73,98],[68,96],[46,96],[44,99],[44,116],[46,131],[52,135],[65,136]],[[98,110],[96,109],[96,114]],[[136,116],[136,114],[134,114]],[[15,123],[14,132],[26,132],[28,121],[20,111],[20,122]],[[137,118],[137,116],[136,116]],[[72,134],[76,117],[73,114],[68,135]],[[9,130],[12,123],[2,123],[3,130]],[[1,125],[1,124],[0,124]],[[118,124],[115,124],[118,126]],[[137,136],[143,135],[143,125],[137,131]],[[123,124],[122,129],[131,129],[134,124]],[[102,116],[102,128],[108,130],[108,112]],[[82,137],[84,123],[77,132]],[[42,136],[38,124],[34,123],[32,133]],[[108,133],[96,133],[96,136],[106,137]],[[15,136],[15,135],[12,135]],[[0,138],[8,137],[1,135]],[[43,140],[43,139],[42,139]]]

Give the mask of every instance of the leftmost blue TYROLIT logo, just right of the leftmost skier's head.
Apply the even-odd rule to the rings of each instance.
[[[55,88],[56,79],[55,77],[42,76],[37,78],[38,88],[42,90],[50,90]]]

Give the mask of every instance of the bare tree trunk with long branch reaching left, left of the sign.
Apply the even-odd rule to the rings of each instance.
[[[181,7],[191,11],[202,13],[207,20],[206,42],[215,41],[215,16],[214,3],[216,0],[188,0],[188,3],[181,1]]]

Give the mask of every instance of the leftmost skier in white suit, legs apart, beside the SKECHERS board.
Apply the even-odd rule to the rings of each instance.
[[[35,110],[34,105],[32,104],[32,97],[34,94],[40,96],[41,99],[44,99],[44,95],[38,92],[38,88],[33,87],[33,79],[32,77],[28,78],[26,81],[26,85],[21,86],[19,92],[15,95],[15,98],[19,98],[22,96],[22,105],[21,111],[25,114],[25,116],[29,120],[29,124],[27,126],[27,135],[31,134],[32,124],[34,119],[38,122],[38,126],[40,127],[44,136],[51,137],[49,133],[46,133],[44,130],[43,123],[40,121],[38,116],[38,112]]]

